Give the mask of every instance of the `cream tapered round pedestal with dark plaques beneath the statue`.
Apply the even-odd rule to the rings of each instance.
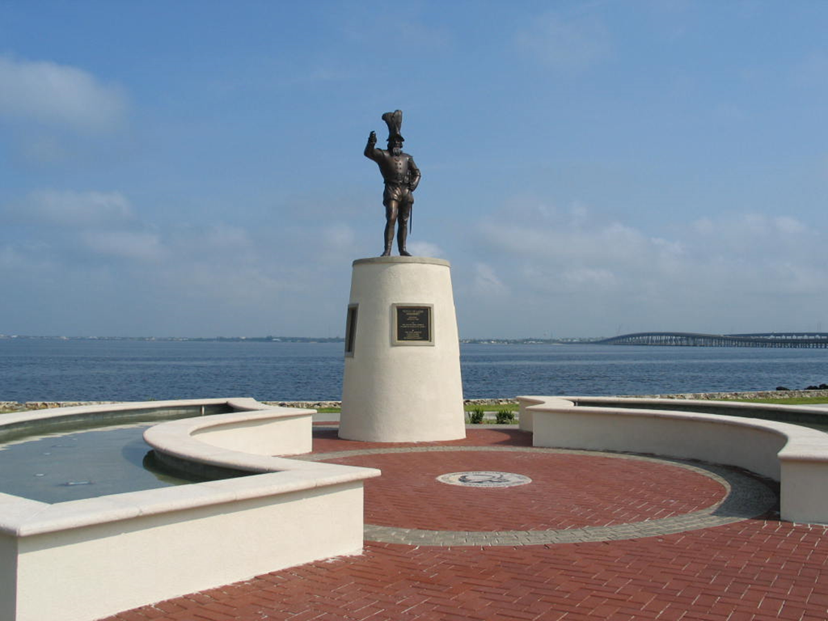
[[[357,259],[348,318],[339,437],[372,442],[465,438],[449,262]]]

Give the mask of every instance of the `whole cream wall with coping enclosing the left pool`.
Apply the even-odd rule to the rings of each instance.
[[[253,399],[56,408],[2,415],[0,435],[202,407],[235,412],[152,427],[156,450],[262,474],[55,504],[0,493],[0,619],[91,621],[362,550],[363,479],[379,471],[268,455],[310,450],[313,410]]]

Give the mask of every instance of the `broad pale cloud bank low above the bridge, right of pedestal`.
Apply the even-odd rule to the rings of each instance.
[[[498,330],[487,285],[508,291],[522,336],[796,329],[828,305],[828,246],[790,215],[718,214],[652,236],[582,206],[524,202],[478,224],[474,286],[458,301],[474,308],[461,312],[466,334]]]

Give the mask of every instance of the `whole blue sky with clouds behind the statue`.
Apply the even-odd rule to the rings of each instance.
[[[4,2],[0,333],[344,332],[409,249],[460,335],[828,331],[828,2]]]

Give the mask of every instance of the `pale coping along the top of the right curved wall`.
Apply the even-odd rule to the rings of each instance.
[[[685,411],[683,408],[710,407],[709,401],[692,399],[652,399],[652,398],[630,398],[630,397],[539,397],[525,396],[517,397],[517,401],[527,412],[549,412],[551,409],[569,409],[577,407],[579,412],[584,414],[614,414],[617,416],[638,416],[652,418],[674,418],[686,421],[710,422],[719,425],[740,426],[756,431],[765,431],[770,434],[782,436],[785,444],[777,453],[780,461],[817,461],[828,464],[828,434],[810,429],[801,425],[793,425],[787,422],[766,421],[759,418],[748,418],[744,415],[757,409],[763,412],[803,412],[802,406],[780,406],[770,403],[741,403],[741,402],[716,402],[716,407],[732,408],[741,410],[743,416],[727,416],[723,414],[706,414],[702,412]],[[582,405],[585,404],[585,405]],[[612,404],[612,407],[609,407]],[[604,407],[601,407],[604,405]],[[659,406],[659,409],[637,408],[636,405]],[[671,408],[681,411],[675,411]],[[825,411],[820,408],[807,408],[815,414],[826,416]],[[828,422],[828,420],[826,420]]]

